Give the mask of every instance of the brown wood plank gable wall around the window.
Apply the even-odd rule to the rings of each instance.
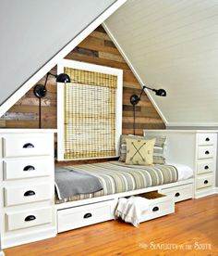
[[[139,95],[141,87],[103,27],[100,26],[91,32],[66,58],[124,70],[123,134],[133,134],[133,108],[129,97],[132,94]],[[51,72],[56,73],[56,67]],[[45,77],[39,83],[43,84],[44,79]],[[52,76],[49,77],[47,89],[48,93],[42,99],[42,128],[56,128],[56,83]],[[33,89],[30,89],[0,119],[0,127],[38,128],[38,104],[38,98],[33,95]],[[148,96],[143,95],[136,107],[136,134],[142,134],[145,128],[164,129],[165,127]]]

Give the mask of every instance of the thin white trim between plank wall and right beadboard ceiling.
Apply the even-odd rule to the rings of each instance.
[[[107,25],[105,24],[105,22],[103,22],[103,29],[107,32],[107,34],[110,36],[111,40],[113,41],[113,43],[115,44],[116,48],[118,49],[118,51],[120,52],[120,54],[122,55],[122,57],[126,60],[127,65],[129,66],[130,70],[132,70],[133,74],[136,76],[138,82],[140,83],[141,87],[145,84],[143,83],[143,81],[141,80],[139,73],[137,72],[137,70],[135,70],[135,68],[133,67],[133,65],[131,64],[130,60],[127,58],[127,55],[125,54],[125,52],[123,51],[122,47],[118,44],[118,42],[116,41],[113,33],[109,30],[109,28],[107,27]],[[159,107],[157,106],[156,102],[154,101],[154,99],[151,96],[151,93],[149,90],[145,89],[147,96],[149,97],[149,99],[151,100],[151,103],[153,105],[153,107],[157,110],[157,112],[159,113],[159,115],[161,116],[163,122],[165,125],[168,125],[168,122],[165,118],[165,116],[163,115],[163,112],[161,111],[161,109],[159,109]]]

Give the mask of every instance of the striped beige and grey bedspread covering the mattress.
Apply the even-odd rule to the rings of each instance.
[[[150,186],[160,186],[174,183],[178,180],[178,172],[173,165],[127,165],[120,161],[108,161],[65,166],[65,168],[71,171],[89,173],[97,177],[103,186],[103,190],[91,194],[79,194],[61,200],[56,196],[55,203],[101,197]]]

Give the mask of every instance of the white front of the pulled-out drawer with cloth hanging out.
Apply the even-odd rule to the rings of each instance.
[[[151,199],[149,209],[144,211],[140,218],[140,223],[149,221],[166,214],[175,212],[175,203],[172,197],[164,197],[163,200]]]

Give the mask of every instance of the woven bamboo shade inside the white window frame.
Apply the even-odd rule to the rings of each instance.
[[[65,68],[65,159],[115,156],[117,77]]]

